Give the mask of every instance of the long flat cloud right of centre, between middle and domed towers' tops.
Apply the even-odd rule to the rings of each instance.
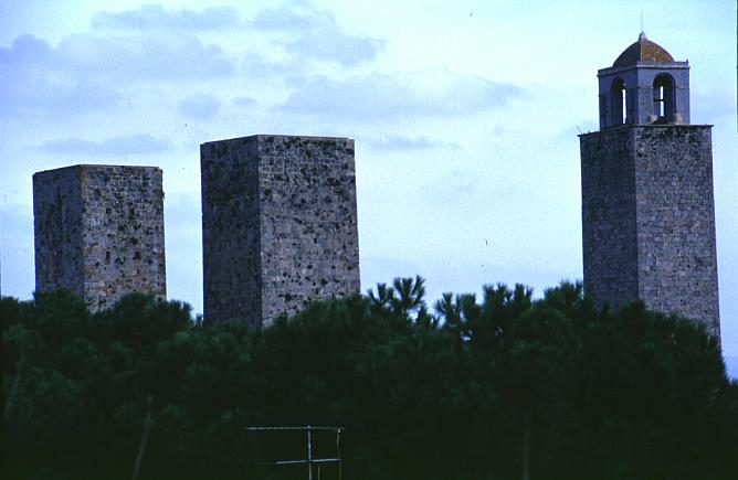
[[[499,108],[525,95],[513,84],[435,67],[412,73],[371,73],[345,81],[315,76],[303,82],[277,109],[355,120],[451,117]]]

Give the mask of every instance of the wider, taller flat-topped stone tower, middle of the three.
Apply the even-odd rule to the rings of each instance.
[[[200,161],[205,321],[260,328],[359,291],[354,140],[257,135]]]

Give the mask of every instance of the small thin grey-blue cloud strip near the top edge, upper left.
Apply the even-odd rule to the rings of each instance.
[[[96,29],[212,31],[238,26],[239,15],[231,7],[211,7],[196,12],[187,9],[165,10],[161,6],[146,4],[138,10],[97,12],[92,24]]]

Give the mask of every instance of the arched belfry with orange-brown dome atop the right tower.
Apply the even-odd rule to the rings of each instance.
[[[600,129],[623,124],[689,124],[689,64],[675,61],[645,33],[597,76]]]

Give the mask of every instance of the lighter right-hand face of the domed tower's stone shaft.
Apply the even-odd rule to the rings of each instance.
[[[720,337],[708,126],[634,129],[639,296]]]

